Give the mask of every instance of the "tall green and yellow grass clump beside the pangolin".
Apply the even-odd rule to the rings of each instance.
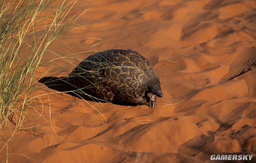
[[[44,53],[73,21],[76,0],[0,1],[0,128],[20,127],[30,108],[34,76]]]

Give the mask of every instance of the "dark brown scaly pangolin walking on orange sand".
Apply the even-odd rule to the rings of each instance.
[[[88,56],[67,77],[101,99],[156,106],[162,97],[159,77],[148,60],[133,50],[105,50]]]

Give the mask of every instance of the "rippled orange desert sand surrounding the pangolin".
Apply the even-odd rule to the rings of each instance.
[[[210,155],[234,153],[256,159],[255,0],[95,0],[88,8],[76,22],[85,27],[50,48],[67,58],[48,53],[43,62],[56,60],[40,66],[37,78],[67,76],[90,55],[70,56],[77,52],[132,49],[153,64],[164,96],[149,109],[49,94],[58,90],[44,85],[34,94],[46,95],[33,101],[35,110],[8,143],[9,162],[214,163]]]

